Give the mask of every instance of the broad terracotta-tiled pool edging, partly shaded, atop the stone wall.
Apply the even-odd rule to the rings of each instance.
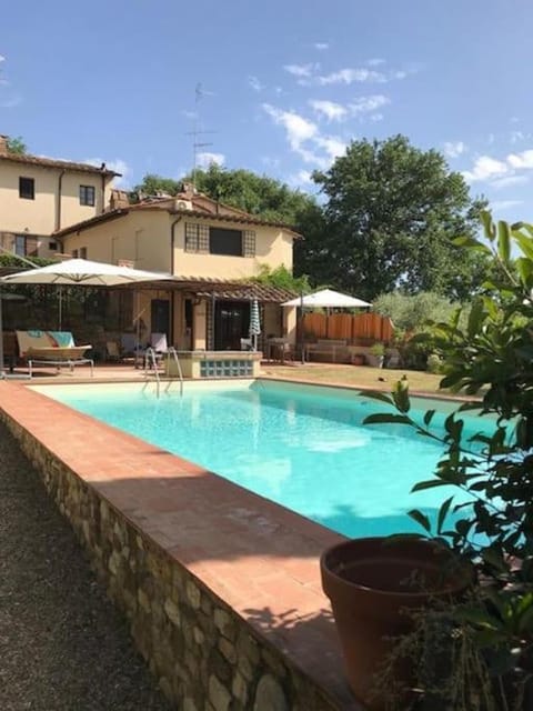
[[[361,709],[343,675],[339,641],[320,582],[321,552],[344,537],[50,400],[33,391],[32,384],[66,382],[1,382],[4,419],[29,432],[231,605],[255,634],[316,683],[334,708]]]

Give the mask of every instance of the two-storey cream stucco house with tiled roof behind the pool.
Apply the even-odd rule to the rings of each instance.
[[[288,226],[228,207],[184,186],[175,198],[129,204],[114,191],[112,207],[53,233],[61,251],[109,263],[170,273],[174,281],[139,290],[131,322],[141,319],[144,341],[164,332],[179,349],[239,350],[248,336],[250,306],[261,308],[261,341],[295,339],[295,310],[281,303],[291,292],[258,284],[264,267],[292,270]]]

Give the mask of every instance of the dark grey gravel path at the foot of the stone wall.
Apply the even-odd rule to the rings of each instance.
[[[67,521],[0,423],[1,711],[170,711]]]

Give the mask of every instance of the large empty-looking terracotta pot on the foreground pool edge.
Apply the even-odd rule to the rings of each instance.
[[[405,611],[457,597],[472,583],[472,569],[457,565],[450,551],[414,538],[345,541],[326,550],[320,564],[350,687],[358,701],[379,711],[384,701],[373,677],[391,652],[391,638],[412,627]],[[409,665],[399,673],[409,678]]]

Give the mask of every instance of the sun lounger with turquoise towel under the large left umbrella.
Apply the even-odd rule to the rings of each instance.
[[[94,361],[84,353],[92,346],[74,346],[70,331],[16,331],[19,353],[28,362],[30,378],[33,365],[54,365],[58,371],[68,367],[72,372],[74,365],[89,363],[93,375]]]

